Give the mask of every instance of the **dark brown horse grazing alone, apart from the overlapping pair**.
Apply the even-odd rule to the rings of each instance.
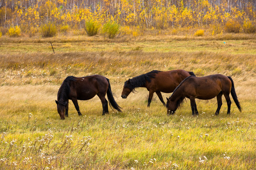
[[[121,111],[119,105],[114,100],[110,80],[104,76],[92,75],[84,77],[68,76],[63,81],[57,96],[57,110],[61,119],[65,119],[68,116],[68,100],[72,100],[78,115],[81,116],[77,100],[89,100],[96,94],[101,99],[103,112],[102,115],[109,113],[108,101],[105,98],[107,93],[110,107]]]

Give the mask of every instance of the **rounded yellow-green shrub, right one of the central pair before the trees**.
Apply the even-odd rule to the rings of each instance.
[[[109,21],[103,25],[102,33],[109,38],[114,38],[119,32],[120,25],[115,21]]]

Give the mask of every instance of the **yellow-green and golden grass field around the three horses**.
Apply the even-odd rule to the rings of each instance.
[[[55,54],[49,42],[53,42]],[[224,43],[225,42],[225,43]],[[0,38],[0,169],[254,170],[256,169],[256,36],[100,36]],[[151,70],[185,69],[197,76],[232,76],[242,112],[222,97],[189,100],[172,116],[156,95],[124,82]],[[55,100],[66,76],[110,79],[123,112],[102,116],[100,99],[73,103],[60,120]],[[171,94],[163,94],[165,97]],[[231,96],[231,95],[230,95]],[[165,101],[166,102],[166,101]]]

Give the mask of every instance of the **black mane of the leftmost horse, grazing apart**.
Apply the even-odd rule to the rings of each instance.
[[[66,100],[68,99],[68,94],[70,93],[70,82],[71,81],[77,81],[76,77],[74,77],[74,76],[67,76],[64,79],[62,85],[60,86],[60,89],[58,91],[58,102],[61,105],[64,105],[64,102],[66,102]]]

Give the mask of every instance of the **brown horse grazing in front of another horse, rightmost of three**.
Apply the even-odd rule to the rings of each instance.
[[[231,106],[229,98],[230,92],[238,110],[241,111],[234,82],[230,76],[224,76],[221,74],[203,77],[189,76],[185,78],[178,87],[176,87],[174,93],[169,99],[166,98],[167,114],[174,114],[174,111],[181,105],[185,97],[190,99],[192,115],[198,114],[195,99],[209,100],[217,96],[218,108],[215,115],[218,115],[222,105],[222,95],[224,95],[228,103],[227,114],[229,114]]]

